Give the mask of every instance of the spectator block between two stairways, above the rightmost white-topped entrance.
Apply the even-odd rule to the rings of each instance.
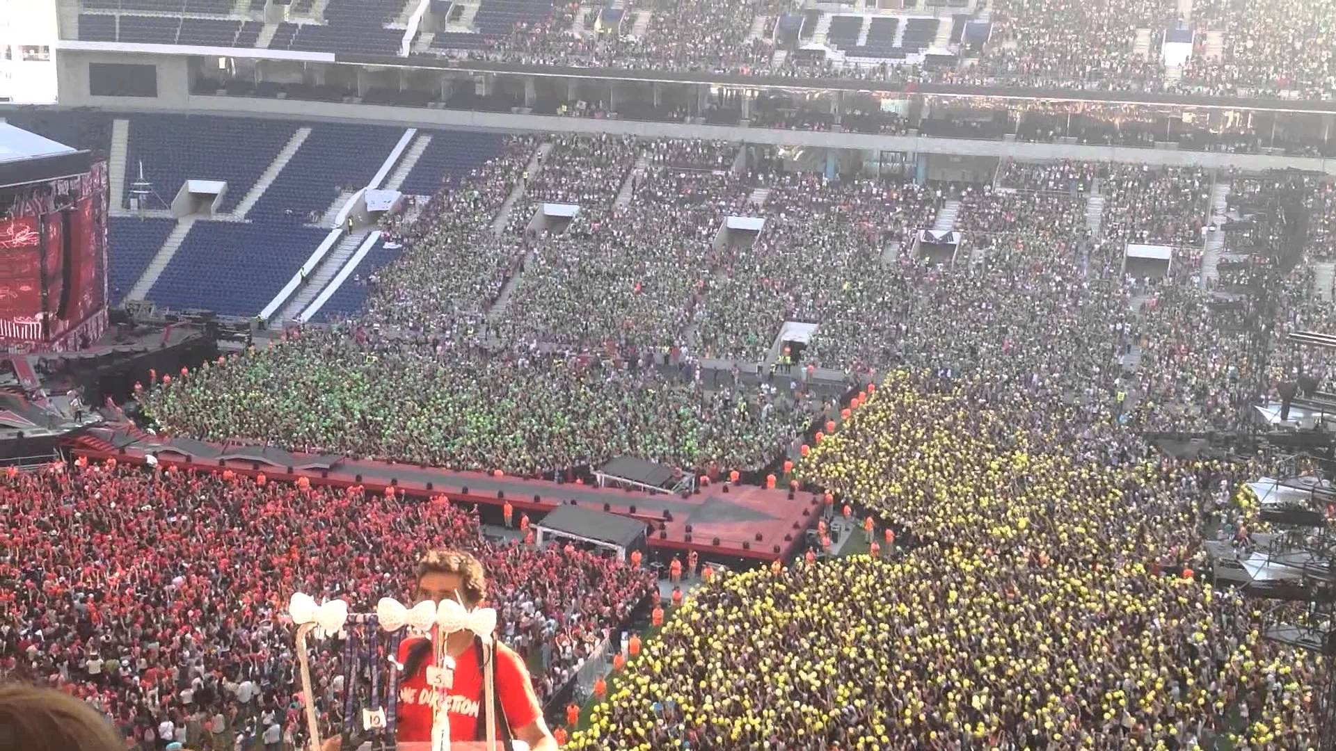
[[[1210,187],[1210,175],[1196,167],[1101,166],[1104,230],[1124,242],[1200,246]]]

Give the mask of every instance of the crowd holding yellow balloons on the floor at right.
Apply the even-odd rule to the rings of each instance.
[[[1192,568],[1237,468],[1154,460],[1106,417],[888,373],[799,477],[898,547],[697,592],[572,746],[1308,747],[1316,660]]]

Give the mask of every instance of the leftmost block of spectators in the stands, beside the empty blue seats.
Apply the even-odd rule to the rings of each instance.
[[[502,156],[432,198],[407,229],[403,253],[377,274],[367,322],[454,331],[481,315],[522,254],[514,238],[492,231],[492,220],[534,146],[532,138],[513,139]]]

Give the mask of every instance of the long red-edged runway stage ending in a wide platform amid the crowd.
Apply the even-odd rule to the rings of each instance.
[[[218,445],[183,438],[150,436],[130,426],[95,428],[72,446],[90,458],[116,457],[142,464],[154,454],[163,465],[258,474],[295,481],[307,477],[327,485],[365,485],[375,492],[394,485],[409,496],[445,494],[453,501],[542,513],[562,504],[631,516],[652,525],[651,549],[697,551],[704,560],[717,557],[770,561],[791,556],[816,524],[820,497],[756,485],[711,484],[688,497],[550,482],[518,477],[493,477],[481,472],[452,472],[414,464],[350,460],[337,454],[302,454],[254,445]],[[501,496],[504,493],[504,497]],[[534,518],[537,521],[537,518]],[[691,527],[688,533],[687,528]],[[786,539],[787,537],[787,539]]]

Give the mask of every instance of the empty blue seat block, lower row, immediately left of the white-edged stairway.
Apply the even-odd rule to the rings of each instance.
[[[220,315],[255,315],[327,234],[301,224],[195,222],[148,299]]]

